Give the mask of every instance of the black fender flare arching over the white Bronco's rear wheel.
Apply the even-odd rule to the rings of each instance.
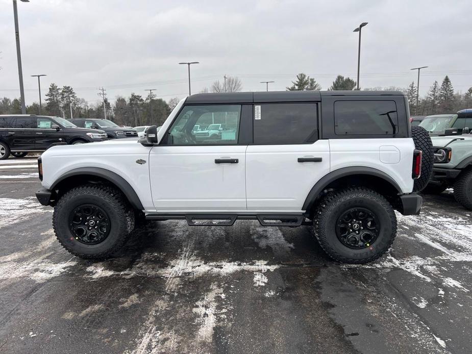
[[[390,183],[399,193],[402,193],[402,189],[388,174],[377,170],[371,167],[365,166],[351,166],[351,167],[343,167],[337,170],[334,170],[328,174],[326,174],[323,178],[321,178],[316,184],[311,188],[310,193],[308,193],[307,198],[305,199],[305,203],[303,204],[302,210],[306,210],[309,212],[313,207],[315,200],[318,198],[320,193],[326,189],[326,187],[340,179],[349,175],[355,174],[365,174],[379,177],[386,182]]]

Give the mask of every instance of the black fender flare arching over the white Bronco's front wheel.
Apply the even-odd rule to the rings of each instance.
[[[134,191],[133,187],[120,175],[116,174],[115,172],[106,170],[100,167],[80,167],[70,170],[69,172],[60,176],[59,179],[54,182],[54,184],[50,187],[50,190],[54,190],[55,187],[66,178],[77,176],[81,174],[91,174],[93,176],[101,177],[118,187],[118,189],[125,194],[130,204],[133,208],[138,210],[144,210],[141,200],[139,200],[138,195]]]

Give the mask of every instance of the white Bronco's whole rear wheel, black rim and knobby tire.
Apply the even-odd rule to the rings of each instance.
[[[343,263],[368,263],[381,257],[396,235],[392,206],[379,193],[349,188],[327,195],[314,217],[321,248]]]

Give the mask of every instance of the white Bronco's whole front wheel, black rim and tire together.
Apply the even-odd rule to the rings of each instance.
[[[53,227],[61,245],[85,259],[111,256],[126,242],[134,213],[111,187],[85,185],[65,193],[54,208]]]

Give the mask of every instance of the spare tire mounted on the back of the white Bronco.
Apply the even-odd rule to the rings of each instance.
[[[413,125],[411,127],[411,136],[415,143],[415,149],[423,151],[421,175],[413,184],[413,191],[420,192],[428,185],[431,172],[433,171],[434,149],[431,138],[425,128]]]

